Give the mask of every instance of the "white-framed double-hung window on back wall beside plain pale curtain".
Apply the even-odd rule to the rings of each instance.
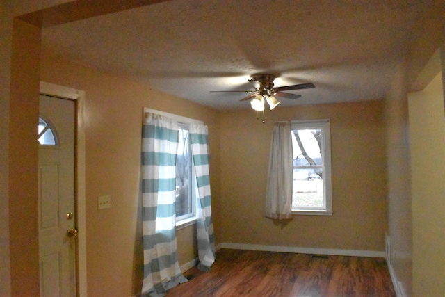
[[[332,214],[330,122],[292,122],[293,214]]]

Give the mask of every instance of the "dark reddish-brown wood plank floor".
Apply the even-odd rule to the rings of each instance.
[[[167,296],[396,296],[383,258],[221,249],[211,272],[184,275]]]

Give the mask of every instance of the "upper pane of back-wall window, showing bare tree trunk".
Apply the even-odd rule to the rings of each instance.
[[[293,166],[322,165],[321,129],[292,131]]]

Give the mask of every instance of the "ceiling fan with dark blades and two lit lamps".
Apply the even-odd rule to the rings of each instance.
[[[286,93],[286,90],[303,90],[309,88],[315,88],[313,83],[300,83],[298,85],[292,86],[282,86],[279,88],[274,88],[273,81],[275,79],[275,75],[273,74],[254,74],[248,80],[252,83],[252,86],[255,90],[226,90],[226,91],[211,91],[212,93],[216,92],[243,92],[249,93],[250,95],[244,97],[240,101],[250,100],[250,104],[252,109],[256,111],[264,111],[264,101],[269,104],[270,109],[274,109],[275,106],[280,104],[280,100],[275,98],[283,97],[287,99],[298,99],[301,95]]]

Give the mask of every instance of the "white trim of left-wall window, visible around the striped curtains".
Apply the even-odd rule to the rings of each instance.
[[[172,118],[173,120],[176,120],[179,125],[184,126],[188,126],[190,124],[201,124],[204,125],[204,122],[200,121],[200,120],[195,120],[192,118],[186,118],[183,117],[181,115],[175,115],[173,113],[166,113],[165,111],[157,111],[156,109],[149,109],[147,107],[144,107],[144,117],[146,115],[146,113],[157,113],[159,115],[163,115],[166,116],[168,118]],[[192,158],[192,191],[191,191],[191,195],[192,197],[195,198],[195,200],[192,201],[192,207],[193,207],[193,212],[194,215],[192,216],[186,216],[183,219],[177,220],[176,221],[176,230],[181,230],[185,227],[194,225],[196,223],[197,220],[197,216],[196,216],[196,211],[197,211],[197,199],[199,199],[197,197],[197,190],[196,190],[196,176],[195,176],[195,170],[193,170],[193,167],[195,166],[195,164],[193,164],[193,158]]]

